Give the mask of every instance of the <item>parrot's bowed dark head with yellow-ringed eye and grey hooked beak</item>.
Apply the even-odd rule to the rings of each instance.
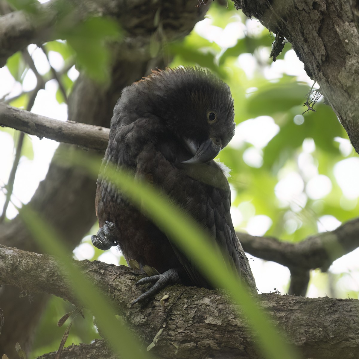
[[[158,70],[133,86],[143,102],[140,107],[163,120],[166,131],[192,153],[183,163],[208,162],[232,139],[235,124],[230,89],[209,71],[192,67]]]

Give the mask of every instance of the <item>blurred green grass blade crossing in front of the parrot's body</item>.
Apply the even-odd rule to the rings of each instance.
[[[74,165],[85,168],[92,176],[97,177],[98,160],[90,159],[82,153],[74,156],[72,160]],[[176,206],[173,200],[146,182],[134,181],[133,176],[110,164],[107,164],[104,176],[123,191],[141,211],[145,211],[146,216],[176,242],[188,257],[194,258],[215,286],[228,290],[233,302],[240,306],[241,312],[247,317],[248,325],[256,335],[258,347],[265,358],[300,358],[299,353],[284,341],[265,311],[258,307],[255,299],[247,293],[238,275],[228,270],[218,249],[215,250],[209,245],[204,231]]]

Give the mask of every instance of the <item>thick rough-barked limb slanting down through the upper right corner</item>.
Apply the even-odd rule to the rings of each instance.
[[[359,153],[359,34],[347,0],[233,0],[292,43],[309,77],[317,81]],[[357,15],[357,14],[356,14]]]

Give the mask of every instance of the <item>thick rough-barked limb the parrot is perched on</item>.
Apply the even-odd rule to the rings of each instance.
[[[23,265],[19,265],[21,263]],[[158,299],[142,307],[131,307],[131,300],[140,291],[135,285],[138,275],[134,270],[98,261],[81,261],[76,265],[95,285],[104,289],[127,323],[136,327],[144,338],[144,347],[164,328],[152,349],[159,358],[174,356],[176,348],[171,343],[178,346],[176,358],[179,359],[261,357],[246,320],[237,314],[238,308],[228,303],[220,290],[176,285],[165,288]],[[56,261],[47,255],[0,246],[0,283],[75,300],[67,279],[59,274]],[[159,299],[164,293],[169,294],[169,300],[163,310]],[[357,355],[358,300],[272,293],[259,295],[258,303],[267,309],[271,321],[286,333],[304,358],[355,358]],[[85,358],[83,355],[79,358]]]

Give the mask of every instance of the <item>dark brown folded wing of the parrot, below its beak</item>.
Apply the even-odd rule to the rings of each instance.
[[[222,168],[215,161],[181,164],[186,150],[178,140],[159,140],[153,163],[153,183],[178,203],[214,240],[223,257],[240,274],[238,240],[230,216],[230,188]],[[212,288],[195,261],[170,240],[188,276],[197,286]]]

